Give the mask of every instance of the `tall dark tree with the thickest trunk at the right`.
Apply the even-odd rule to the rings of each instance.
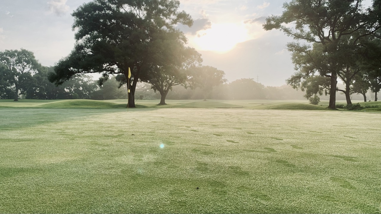
[[[370,8],[364,9],[361,0],[292,0],[284,3],[283,8],[282,15],[266,19],[264,29],[279,29],[296,40],[322,45],[326,62],[324,70],[319,68],[320,75],[330,78],[328,107],[335,109],[338,72],[345,64],[341,45],[356,45],[360,38],[380,28],[380,1],[374,0]],[[342,42],[346,37],[351,37],[351,44]],[[295,51],[306,50],[304,45],[295,43],[294,46]]]

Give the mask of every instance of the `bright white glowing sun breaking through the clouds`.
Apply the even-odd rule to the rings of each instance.
[[[234,23],[212,24],[210,29],[200,30],[192,43],[196,49],[226,53],[237,43],[248,40],[248,30],[245,26]]]

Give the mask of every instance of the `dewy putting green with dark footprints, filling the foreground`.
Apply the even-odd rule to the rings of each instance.
[[[378,113],[0,114],[0,213],[381,212]]]

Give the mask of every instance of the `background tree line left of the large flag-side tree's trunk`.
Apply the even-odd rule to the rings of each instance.
[[[48,80],[54,67],[38,63],[31,51],[0,52],[0,99],[126,99],[125,86],[115,77],[102,86],[90,76],[81,75],[56,86]]]

